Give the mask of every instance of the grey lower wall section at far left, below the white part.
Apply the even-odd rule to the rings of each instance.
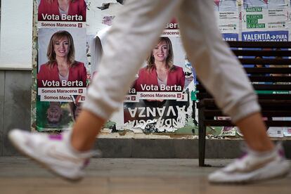
[[[30,130],[31,71],[0,70],[0,155],[15,155],[7,134]]]

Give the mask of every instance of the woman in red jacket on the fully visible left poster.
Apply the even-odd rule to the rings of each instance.
[[[62,83],[77,81],[79,87],[86,87],[86,67],[75,60],[74,41],[69,32],[62,30],[52,35],[46,56],[48,62],[40,67],[37,86],[48,86],[48,82],[64,86]]]

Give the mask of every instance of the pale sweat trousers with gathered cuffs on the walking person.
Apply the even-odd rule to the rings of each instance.
[[[108,32],[83,108],[108,119],[119,108],[150,49],[173,16],[200,81],[233,122],[259,112],[243,67],[221,39],[213,0],[127,0]]]

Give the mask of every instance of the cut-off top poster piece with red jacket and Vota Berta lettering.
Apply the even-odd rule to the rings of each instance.
[[[40,0],[39,21],[86,21],[84,0]]]

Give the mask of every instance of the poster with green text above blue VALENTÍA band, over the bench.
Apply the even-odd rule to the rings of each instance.
[[[287,0],[244,0],[243,41],[288,41]]]

